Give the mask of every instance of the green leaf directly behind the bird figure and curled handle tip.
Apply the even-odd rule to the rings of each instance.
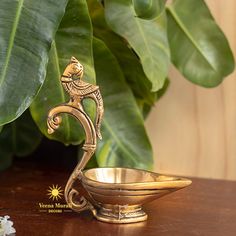
[[[65,144],[79,144],[84,134],[74,118],[63,115],[60,128],[52,135],[48,135],[46,124],[49,109],[69,100],[60,77],[71,56],[75,56],[84,66],[84,79],[95,83],[92,25],[86,0],[69,1],[50,51],[45,83],[31,105],[31,114],[44,135]]]

